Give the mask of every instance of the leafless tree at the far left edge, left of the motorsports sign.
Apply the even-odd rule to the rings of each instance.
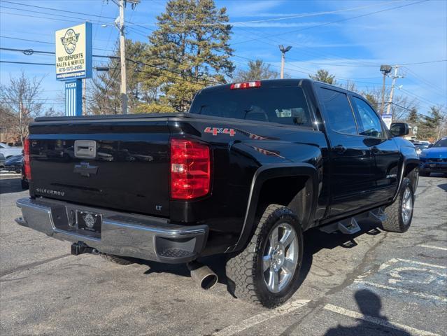
[[[18,77],[10,76],[8,85],[0,86],[0,103],[10,113],[10,127],[22,141],[28,135],[29,123],[42,111],[45,102],[38,99],[43,78],[29,78],[24,71]]]

